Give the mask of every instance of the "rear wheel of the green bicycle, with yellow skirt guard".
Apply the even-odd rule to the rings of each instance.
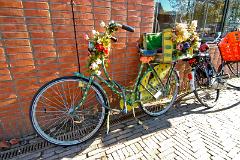
[[[146,72],[141,79],[139,84],[140,108],[146,114],[153,117],[160,116],[173,106],[178,94],[179,77],[175,70],[170,76],[168,75],[169,73],[162,78],[159,77],[163,84],[166,84],[168,77],[170,78],[166,86],[157,81],[153,71]],[[162,93],[162,95],[156,99],[153,95],[158,93]]]

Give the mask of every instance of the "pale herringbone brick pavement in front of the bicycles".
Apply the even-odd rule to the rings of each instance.
[[[188,100],[163,116],[154,118],[141,114],[139,117],[148,130],[130,118],[112,125],[109,135],[103,128],[97,137],[87,143],[71,147],[48,144],[13,159],[240,158],[240,91],[222,91],[219,104],[211,109],[195,100]],[[33,139],[33,143],[39,141],[42,140]],[[44,144],[46,142],[43,141]]]

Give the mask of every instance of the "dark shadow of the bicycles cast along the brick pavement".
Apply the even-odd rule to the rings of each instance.
[[[231,94],[234,95],[234,92],[231,92]],[[107,150],[114,145],[129,145],[137,142],[139,138],[147,138],[148,136],[151,136],[152,133],[170,128],[172,124],[169,120],[172,118],[182,117],[190,114],[209,114],[222,112],[240,105],[240,101],[238,101],[238,99],[239,98],[235,97],[237,102],[233,102],[233,104],[230,104],[229,106],[224,105],[223,107],[216,106],[213,108],[206,108],[200,105],[196,100],[193,101],[193,97],[188,99],[191,101],[190,103],[188,100],[183,99],[180,101],[180,103],[175,104],[174,107],[169,109],[167,113],[159,117],[150,117],[138,109],[137,117],[143,123],[143,125],[140,125],[133,118],[132,114],[123,115],[120,116],[119,119],[113,120],[115,122],[110,126],[110,133],[108,135],[106,134],[106,125],[104,125],[94,138],[84,143],[69,147],[50,145],[48,148],[43,148],[42,150],[38,151],[41,152],[41,154],[36,158],[71,159],[76,155],[84,155],[88,153],[89,156],[93,156],[104,150],[107,152]],[[26,159],[24,155],[14,158]]]

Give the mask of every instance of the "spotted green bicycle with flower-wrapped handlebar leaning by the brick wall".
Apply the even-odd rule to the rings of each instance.
[[[106,91],[98,81],[106,84],[120,100],[118,111],[127,113],[139,107],[150,116],[165,113],[174,103],[179,78],[171,64],[141,63],[132,89],[111,80],[106,70],[113,33],[118,28],[134,32],[134,28],[111,21],[104,33],[89,43],[91,75],[61,77],[43,85],[35,94],[30,108],[30,119],[35,131],[56,145],[75,145],[93,137],[108,119],[110,107]],[[100,38],[99,38],[100,37]],[[96,44],[102,44],[102,46]],[[176,62],[174,62],[176,63]],[[94,64],[94,65],[93,65]],[[97,64],[97,65],[96,65]],[[100,76],[100,70],[105,78]],[[109,124],[107,124],[109,125]]]

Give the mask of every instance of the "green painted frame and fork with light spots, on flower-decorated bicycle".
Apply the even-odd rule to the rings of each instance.
[[[101,68],[103,70],[103,73],[106,77],[106,79],[103,78],[103,76],[101,75],[97,75],[97,74],[92,74],[90,77],[86,77],[81,73],[75,73],[76,76],[85,78],[88,80],[88,84],[86,85],[85,91],[83,93],[83,98],[82,100],[79,102],[78,106],[75,107],[75,110],[77,110],[86,100],[86,96],[88,94],[88,91],[90,89],[90,86],[94,83],[95,85],[98,86],[99,89],[101,89],[101,91],[105,94],[106,98],[107,98],[107,104],[105,104],[105,107],[107,109],[111,109],[110,107],[110,103],[109,103],[109,99],[107,97],[107,93],[106,91],[102,88],[102,86],[97,83],[95,81],[95,79],[98,79],[100,82],[104,83],[108,88],[110,88],[115,94],[117,94],[120,98],[123,99],[123,103],[124,103],[124,108],[126,109],[127,105],[133,106],[133,104],[135,103],[140,103],[140,86],[143,86],[141,84],[141,81],[143,79],[143,77],[148,74],[149,72],[152,72],[154,74],[154,76],[157,77],[157,80],[160,84],[162,84],[162,87],[164,87],[164,90],[168,90],[168,85],[170,84],[170,77],[171,74],[175,68],[175,64],[173,63],[173,65],[171,66],[169,75],[168,75],[168,80],[166,82],[166,84],[163,84],[163,82],[161,81],[160,77],[158,76],[157,72],[154,69],[155,65],[158,65],[159,63],[141,63],[139,66],[139,71],[138,71],[138,75],[136,78],[136,81],[134,83],[134,86],[131,89],[127,89],[126,87],[118,84],[116,81],[112,80],[107,72],[106,66],[104,65],[104,59],[102,58],[102,64],[101,64]],[[144,87],[144,86],[143,86]],[[148,89],[146,87],[144,87],[146,89],[146,91],[148,91]],[[151,92],[148,91],[150,94]],[[152,95],[154,96],[154,95]]]

